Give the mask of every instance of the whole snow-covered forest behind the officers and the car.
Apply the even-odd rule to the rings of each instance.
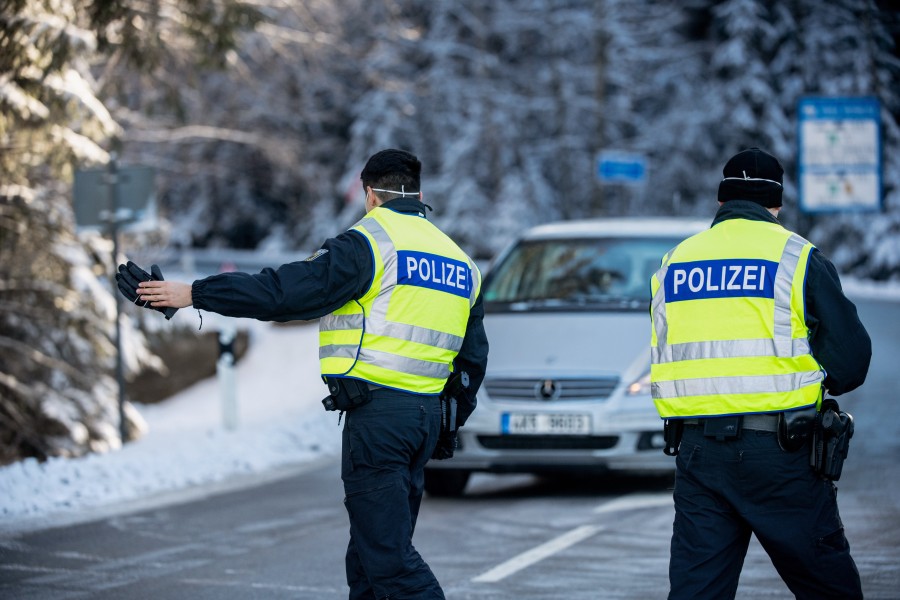
[[[759,146],[786,226],[897,280],[898,41],[875,0],[0,0],[0,465],[120,443],[115,261],[75,227],[76,169],[155,169],[162,218],[126,252],[302,257],[361,216],[366,158],[405,148],[430,218],[488,258],[547,221],[711,218]],[[804,96],[880,101],[881,211],[800,213]],[[601,186],[608,149],[646,183]],[[141,319],[122,331],[130,377],[164,369]]]

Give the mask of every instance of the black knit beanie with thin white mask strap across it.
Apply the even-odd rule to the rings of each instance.
[[[784,169],[778,159],[759,148],[749,148],[732,156],[719,184],[719,202],[752,200],[766,208],[781,206]]]

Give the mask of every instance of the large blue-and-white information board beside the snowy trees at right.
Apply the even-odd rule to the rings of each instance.
[[[807,97],[798,106],[800,209],[881,209],[881,115],[877,98]]]

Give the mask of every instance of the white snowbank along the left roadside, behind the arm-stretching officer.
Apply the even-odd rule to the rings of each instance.
[[[232,322],[251,334],[250,350],[235,370],[235,430],[223,425],[216,378],[141,406],[149,431],[121,450],[0,468],[0,530],[77,520],[98,508],[339,453],[337,415],[320,403],[327,389],[318,376],[315,325]],[[224,323],[204,315],[204,328]]]

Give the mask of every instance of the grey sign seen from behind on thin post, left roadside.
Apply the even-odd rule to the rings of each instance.
[[[73,205],[79,230],[100,230],[112,237],[113,266],[119,256],[119,232],[156,226],[155,172],[149,167],[119,168],[115,153],[105,168],[75,171]],[[116,384],[119,388],[119,436],[128,440],[125,419],[125,375],[122,360],[122,299],[116,286],[115,268],[110,280],[116,303]]]

